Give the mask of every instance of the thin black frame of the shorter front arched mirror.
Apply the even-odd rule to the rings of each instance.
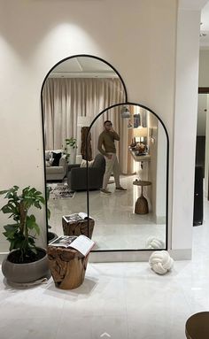
[[[105,108],[102,112],[100,112],[97,117],[95,117],[95,119],[92,120],[90,126],[89,126],[89,131],[86,135],[86,154],[87,154],[87,158],[88,158],[88,137],[89,137],[89,133],[90,133],[90,129],[91,127],[94,125],[95,121],[102,115],[104,114],[104,112],[111,110],[114,107],[119,107],[119,106],[126,106],[126,105],[135,105],[138,107],[141,107],[149,112],[151,112],[157,119],[159,119],[161,125],[163,126],[165,133],[166,133],[166,248],[165,249],[156,249],[156,250],[167,250],[167,241],[168,241],[168,173],[169,173],[169,137],[168,137],[168,133],[166,130],[166,126],[164,124],[164,122],[162,121],[162,119],[159,118],[159,116],[153,112],[149,107],[144,106],[143,104],[135,104],[132,102],[124,102],[124,103],[120,103],[120,104],[112,104],[112,106],[109,106],[107,108]],[[88,166],[88,161],[87,161],[87,176],[86,176],[86,182],[87,182],[87,214],[88,214],[88,235],[89,235],[89,166]],[[140,250],[92,250],[92,252],[119,252],[119,251],[141,251],[141,250],[151,250],[152,249],[140,249]]]

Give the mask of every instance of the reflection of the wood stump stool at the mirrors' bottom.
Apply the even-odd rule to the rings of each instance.
[[[89,218],[89,238],[91,239],[94,230],[95,220]],[[88,220],[66,221],[62,218],[64,235],[86,235],[88,236]]]

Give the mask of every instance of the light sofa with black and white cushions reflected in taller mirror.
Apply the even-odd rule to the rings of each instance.
[[[63,150],[45,150],[46,181],[62,181],[66,176],[67,161]]]

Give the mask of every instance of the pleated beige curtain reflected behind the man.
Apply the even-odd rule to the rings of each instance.
[[[117,78],[48,78],[43,89],[43,123],[46,150],[62,149],[66,138],[77,135],[78,116],[96,117],[106,107],[125,101],[125,93]],[[105,112],[91,129],[93,158],[97,154],[98,135],[105,119],[111,119],[120,134],[117,153],[121,173],[133,173],[133,161],[128,154],[130,129],[128,119],[120,118],[121,107]],[[79,151],[78,151],[79,153]]]

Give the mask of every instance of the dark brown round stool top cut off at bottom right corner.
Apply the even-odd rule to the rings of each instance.
[[[187,339],[208,339],[209,312],[193,314],[186,322],[185,334]]]

